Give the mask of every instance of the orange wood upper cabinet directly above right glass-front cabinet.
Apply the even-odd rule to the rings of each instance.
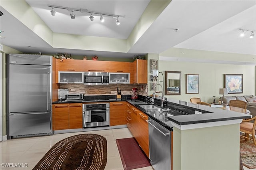
[[[130,73],[130,62],[109,61],[108,69],[114,73]]]

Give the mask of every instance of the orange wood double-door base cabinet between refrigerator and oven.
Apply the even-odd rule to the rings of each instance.
[[[52,105],[52,128],[64,130],[82,128],[82,103]]]

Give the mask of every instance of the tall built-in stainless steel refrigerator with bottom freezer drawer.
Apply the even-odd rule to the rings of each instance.
[[[50,135],[52,56],[7,54],[8,138]]]

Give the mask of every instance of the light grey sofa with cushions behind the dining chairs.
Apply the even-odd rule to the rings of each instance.
[[[256,116],[256,97],[254,95],[225,96],[225,97],[222,97],[223,105],[228,105],[230,100],[246,101],[247,109],[251,112],[252,117]]]

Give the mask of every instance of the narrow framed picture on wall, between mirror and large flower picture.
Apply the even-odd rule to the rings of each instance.
[[[199,93],[199,74],[186,74],[186,94]]]

